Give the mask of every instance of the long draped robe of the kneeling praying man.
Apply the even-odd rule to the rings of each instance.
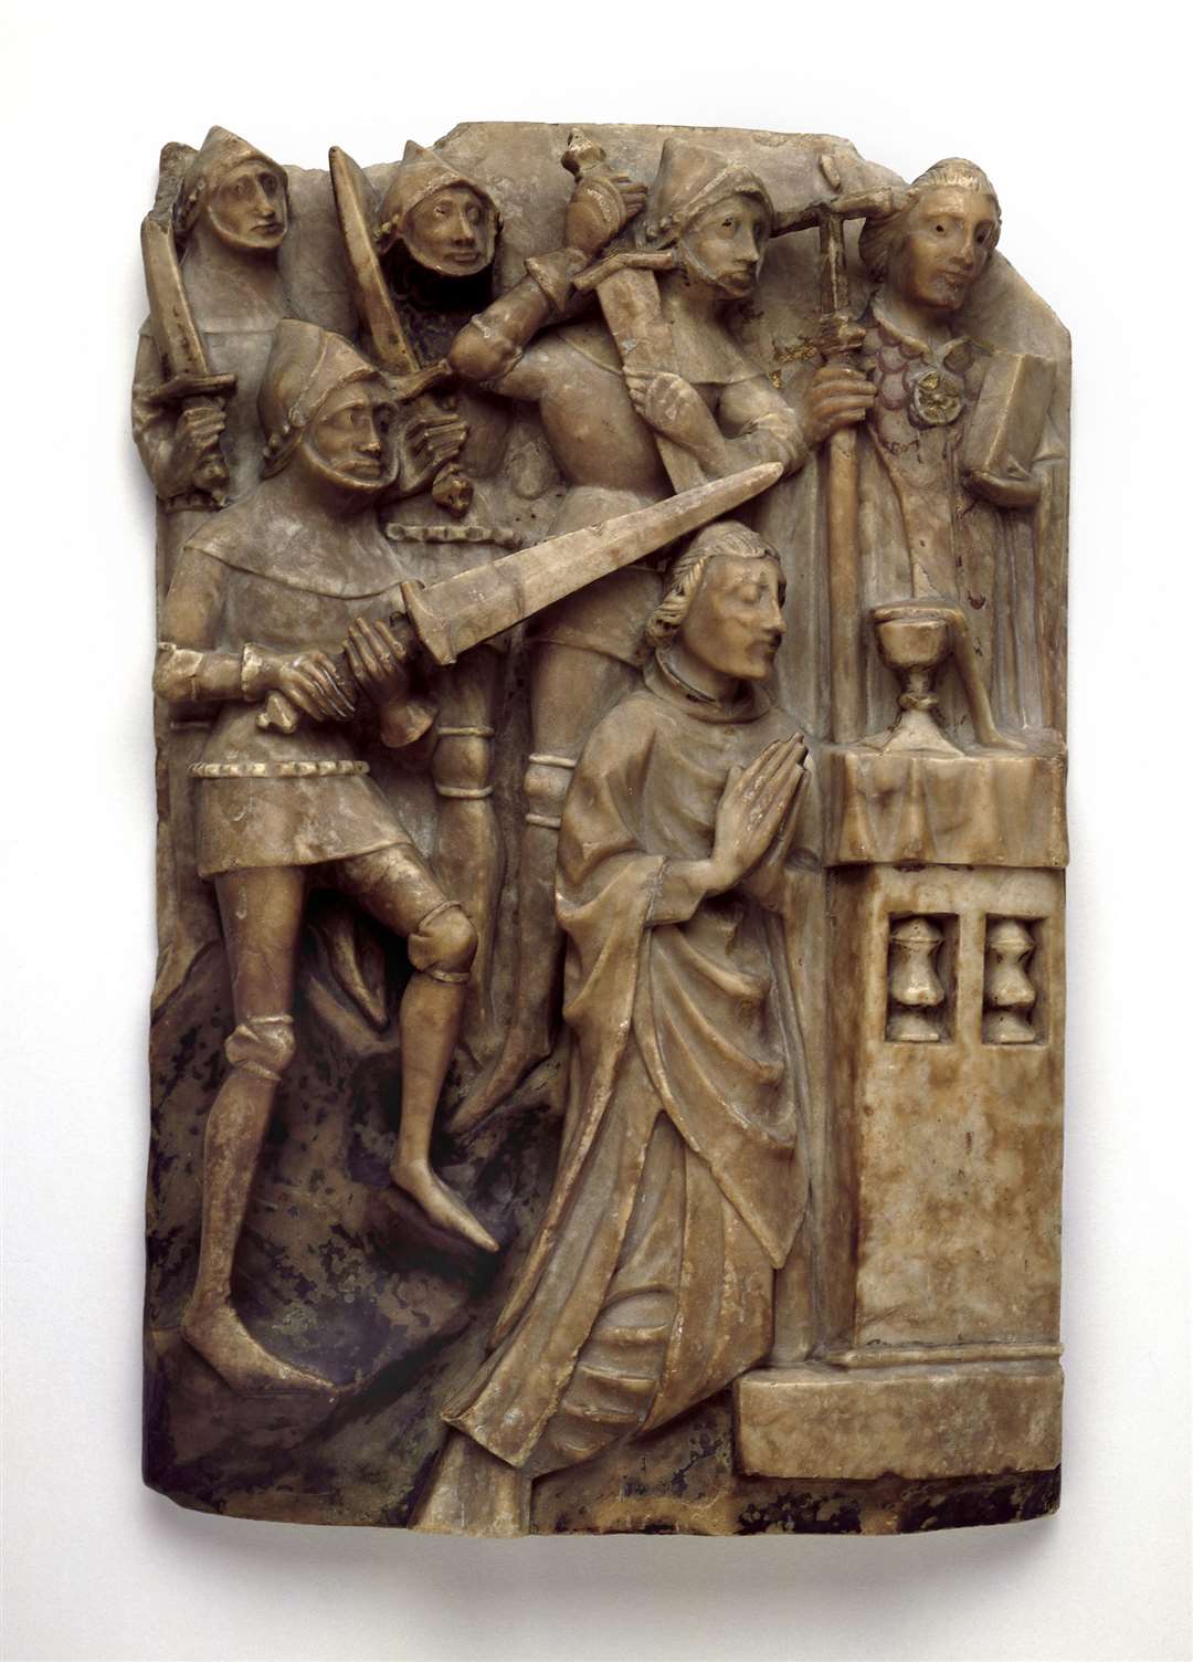
[[[761,691],[724,706],[653,661],[577,768],[558,1173],[495,1348],[444,1409],[528,1474],[666,1423],[771,1346],[808,1195],[783,924],[744,886],[693,911],[680,863],[709,854],[729,768],[791,731]]]

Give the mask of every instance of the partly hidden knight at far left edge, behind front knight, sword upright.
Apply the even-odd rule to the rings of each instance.
[[[133,437],[160,500],[158,605],[191,532],[258,482],[258,389],[272,332],[292,314],[277,264],[291,229],[286,170],[213,126],[203,145],[166,145],[158,198],[141,226],[150,317],[133,377]],[[189,766],[208,736],[201,706],[160,706],[161,1010],[219,941],[209,884],[194,874]]]

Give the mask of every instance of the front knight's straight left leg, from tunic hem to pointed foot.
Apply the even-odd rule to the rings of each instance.
[[[331,1391],[327,1379],[277,1361],[233,1310],[233,1263],[248,1213],[277,1084],[294,1059],[294,947],[301,871],[246,871],[218,879],[238,1027],[231,1064],[208,1114],[203,1143],[199,1271],[184,1338],[236,1391]]]

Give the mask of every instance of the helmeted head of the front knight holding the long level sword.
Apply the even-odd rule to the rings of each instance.
[[[376,364],[339,334],[286,317],[258,397],[271,479],[296,459],[341,495],[374,497],[397,477],[397,397]]]

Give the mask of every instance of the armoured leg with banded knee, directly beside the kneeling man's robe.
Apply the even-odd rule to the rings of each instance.
[[[563,936],[555,922],[555,854],[563,799],[585,740],[638,681],[618,658],[543,645],[532,685],[533,750],[525,773],[527,818],[518,856],[518,941],[513,1014],[495,1067],[464,1099],[454,1130],[497,1107],[552,1047]]]

